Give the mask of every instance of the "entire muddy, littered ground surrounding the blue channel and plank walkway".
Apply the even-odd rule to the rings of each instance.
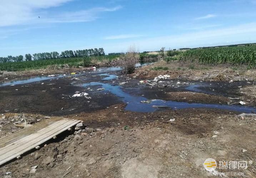
[[[0,138],[22,129],[14,123],[23,117],[31,125],[52,116],[79,119],[85,125],[79,131],[63,132],[39,150],[2,165],[0,177],[256,177],[255,117],[206,108],[128,111],[127,103],[116,94],[99,91],[97,85],[82,87],[84,83],[100,81],[119,86],[129,97],[231,106],[240,106],[237,102],[243,100],[256,106],[256,75],[247,78],[246,72],[237,69],[239,75],[230,72],[216,78],[223,74],[224,66],[212,67],[209,75],[204,74],[207,70],[196,75],[200,69],[177,69],[177,65],[185,64],[166,64],[170,65],[167,71],[149,70],[153,65],[141,67],[133,75],[110,72],[118,76],[110,80],[86,74],[79,80],[65,77],[45,80],[44,84],[0,87]],[[228,71],[231,68],[226,66]],[[153,81],[159,74],[171,76],[154,85],[139,82]],[[227,82],[231,79],[234,82]],[[119,85],[121,82],[128,83]],[[197,90],[191,86],[197,86]],[[72,98],[76,91],[88,93],[91,99]],[[207,158],[214,158],[218,166],[219,161],[247,161],[248,167],[217,167],[216,172],[210,173],[203,166]],[[32,169],[34,166],[37,167]]]

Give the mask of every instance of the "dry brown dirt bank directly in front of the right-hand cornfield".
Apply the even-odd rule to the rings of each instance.
[[[168,70],[153,70],[155,67],[168,68]],[[154,78],[157,75],[170,75],[170,79],[197,80],[197,81],[254,81],[256,69],[247,69],[247,66],[233,66],[230,64],[197,64],[189,62],[165,61],[145,66],[136,70],[132,77]]]

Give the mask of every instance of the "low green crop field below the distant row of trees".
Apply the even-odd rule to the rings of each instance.
[[[114,58],[118,56],[97,56],[97,57],[88,57],[89,59],[97,59],[98,61],[102,61],[103,59],[107,59],[112,61]],[[38,69],[51,65],[61,65],[61,64],[75,64],[82,62],[84,60],[83,57],[80,58],[58,58],[58,59],[45,59],[45,60],[36,60],[36,61],[20,61],[20,62],[4,62],[0,63],[0,71],[19,71],[25,69]]]

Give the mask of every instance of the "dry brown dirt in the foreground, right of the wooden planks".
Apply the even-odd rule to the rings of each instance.
[[[2,166],[0,175],[206,177],[213,176],[202,166],[206,158],[213,157],[217,162],[256,159],[254,120],[205,109],[153,113],[123,109],[122,105],[114,105],[89,115],[85,112],[68,116],[84,120],[85,130],[59,135],[40,150]],[[34,166],[36,170],[31,171]],[[233,171],[254,177],[255,164]]]

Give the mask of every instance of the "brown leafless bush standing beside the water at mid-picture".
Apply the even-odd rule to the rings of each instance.
[[[120,66],[123,68],[124,73],[131,74],[135,70],[135,64],[139,62],[139,54],[135,51],[135,47],[131,46],[128,52],[120,57]]]

